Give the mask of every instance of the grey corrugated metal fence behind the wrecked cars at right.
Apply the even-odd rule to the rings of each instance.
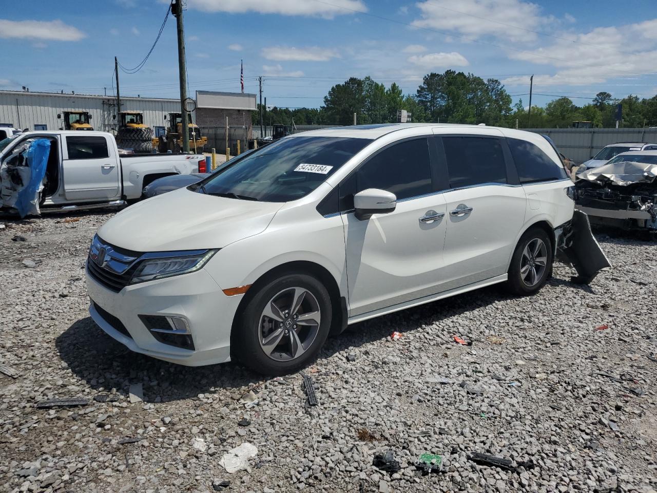
[[[657,128],[532,128],[548,135],[564,156],[584,162],[602,147],[617,142],[657,143]]]

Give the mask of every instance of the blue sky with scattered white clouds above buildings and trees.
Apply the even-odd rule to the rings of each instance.
[[[1,89],[112,94],[114,56],[137,65],[167,0],[32,0],[0,13]],[[514,101],[657,94],[654,0],[187,0],[190,89],[258,91],[267,105],[318,107],[335,83],[372,76],[415,93],[448,68],[505,83]],[[123,95],[178,95],[175,18]],[[106,88],[106,89],[104,89]],[[587,99],[588,98],[588,99]]]

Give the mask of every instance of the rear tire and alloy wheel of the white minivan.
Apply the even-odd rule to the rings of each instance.
[[[518,296],[537,293],[552,273],[553,247],[540,227],[528,229],[520,237],[509,266],[509,291]]]

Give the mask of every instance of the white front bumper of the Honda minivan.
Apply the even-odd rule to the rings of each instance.
[[[226,296],[204,270],[124,287],[118,293],[99,283],[85,268],[91,318],[112,338],[134,352],[187,366],[230,360],[231,327],[242,296]],[[97,308],[100,308],[98,310]],[[194,350],[158,341],[139,316],[187,320]]]

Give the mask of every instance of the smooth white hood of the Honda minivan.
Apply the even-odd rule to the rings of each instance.
[[[223,248],[264,231],[282,206],[183,188],[122,210],[102,225],[98,235],[135,252]]]

